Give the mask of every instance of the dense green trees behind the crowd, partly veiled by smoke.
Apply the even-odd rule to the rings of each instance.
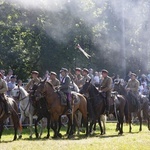
[[[62,66],[120,75],[149,69],[148,1],[66,0],[57,10],[46,9],[47,0],[37,0],[39,7],[27,2],[0,0],[0,69],[12,68],[24,80],[31,70],[43,75]]]

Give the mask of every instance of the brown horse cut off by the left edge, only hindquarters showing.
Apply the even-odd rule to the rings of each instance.
[[[16,140],[17,139],[17,131],[18,131],[18,129],[20,129],[19,116],[17,113],[18,107],[17,107],[17,104],[13,98],[6,97],[6,96],[5,96],[5,98],[7,100],[8,108],[10,111],[10,117],[11,117],[11,119],[13,121],[13,125],[14,125],[15,133],[14,133],[14,139],[13,140]],[[0,139],[2,136],[3,129],[4,129],[4,122],[9,117],[9,115],[6,115],[4,108],[5,108],[4,103],[2,101],[0,101]]]

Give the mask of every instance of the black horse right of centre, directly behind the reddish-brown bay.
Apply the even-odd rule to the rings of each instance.
[[[95,123],[96,120],[98,120],[101,134],[103,134],[103,129],[101,127],[101,122],[100,122],[100,115],[102,115],[105,110],[105,97],[102,95],[102,93],[99,93],[96,87],[90,83],[90,81],[85,82],[82,89],[80,90],[80,93],[88,94],[89,101],[91,102],[91,106],[92,106],[91,109],[93,111],[93,114],[91,115],[92,122],[90,124],[90,129],[89,129],[90,132],[92,130],[93,124]],[[126,106],[125,105],[126,100],[120,95],[117,95],[117,97],[118,97],[118,101],[110,105],[110,114],[113,114],[118,119],[118,125],[117,125],[119,130],[118,134],[123,134],[123,121],[124,121],[124,110]]]

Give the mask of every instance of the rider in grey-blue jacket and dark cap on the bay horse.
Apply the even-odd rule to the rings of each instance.
[[[62,75],[62,80],[60,83],[60,91],[64,92],[67,96],[67,106],[68,106],[68,113],[72,113],[71,109],[71,88],[70,88],[70,77],[68,75],[68,70],[66,68],[62,68],[60,70]]]

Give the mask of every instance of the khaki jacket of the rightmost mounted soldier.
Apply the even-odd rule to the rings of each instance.
[[[131,92],[134,94],[138,94],[138,89],[139,89],[139,81],[137,79],[135,80],[129,80],[127,83],[126,88],[130,88]]]

